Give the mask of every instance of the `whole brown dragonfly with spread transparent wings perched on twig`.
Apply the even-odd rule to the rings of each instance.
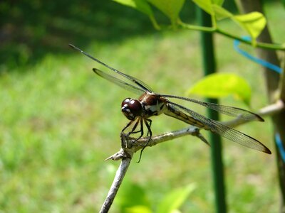
[[[257,151],[271,154],[269,148],[264,146],[263,143],[257,141],[257,139],[252,138],[251,136],[248,136],[245,133],[237,131],[236,129],[232,129],[231,127],[226,126],[219,121],[209,119],[206,116],[203,116],[202,114],[198,114],[192,109],[170,101],[170,99],[180,99],[185,102],[199,104],[203,107],[219,111],[222,114],[238,117],[239,119],[250,121],[264,121],[264,119],[262,119],[261,116],[259,116],[258,114],[254,114],[252,111],[247,111],[246,109],[229,107],[209,102],[202,102],[197,99],[191,99],[188,97],[179,97],[171,94],[155,93],[147,84],[145,84],[145,82],[142,82],[141,80],[138,80],[135,77],[120,72],[119,70],[116,70],[113,67],[110,67],[109,65],[98,60],[97,58],[94,58],[93,56],[89,55],[88,53],[84,52],[83,50],[77,48],[72,44],[69,45],[71,46],[71,48],[78,50],[79,52],[86,55],[88,58],[95,60],[100,65],[107,67],[113,75],[93,68],[93,72],[95,72],[95,74],[99,75],[100,77],[103,77],[105,80],[108,80],[113,84],[118,85],[119,87],[122,87],[140,95],[138,99],[132,99],[128,97],[124,99],[121,104],[121,111],[123,112],[125,117],[130,120],[128,124],[123,128],[122,133],[126,129],[128,129],[128,127],[133,125],[127,136],[139,133],[140,135],[135,138],[135,141],[138,141],[144,135],[144,126],[146,126],[147,128],[147,136],[149,137],[140,151],[140,158],[142,155],[142,151],[144,150],[144,148],[147,147],[147,144],[152,138],[152,130],[150,128],[152,120],[150,118],[152,116],[159,116],[160,114],[165,114],[180,121],[184,121],[186,124],[196,126],[199,129],[205,129],[207,131],[211,131],[212,133],[217,133],[220,136],[227,138],[235,143],[239,143],[242,146],[246,146],[247,148],[252,148]],[[119,75],[120,78],[115,77],[116,75]],[[140,162],[140,159],[138,160],[138,162]]]

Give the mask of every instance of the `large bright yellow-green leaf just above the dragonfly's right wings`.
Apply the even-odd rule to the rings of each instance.
[[[197,82],[190,88],[188,93],[209,98],[233,95],[249,105],[252,91],[247,81],[238,75],[232,73],[214,73],[207,75],[207,77]]]

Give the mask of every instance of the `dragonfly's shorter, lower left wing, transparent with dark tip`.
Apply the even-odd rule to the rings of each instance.
[[[140,87],[135,87],[132,84],[128,84],[127,82],[124,82],[124,81],[122,81],[116,77],[113,77],[112,75],[108,75],[107,73],[105,73],[101,70],[93,68],[93,71],[97,75],[99,75],[100,77],[103,77],[103,78],[105,78],[105,80],[113,82],[114,84],[118,85],[119,87],[122,87],[123,89],[127,89],[127,90],[134,92],[136,94],[142,94],[145,92],[145,90],[141,89]]]

